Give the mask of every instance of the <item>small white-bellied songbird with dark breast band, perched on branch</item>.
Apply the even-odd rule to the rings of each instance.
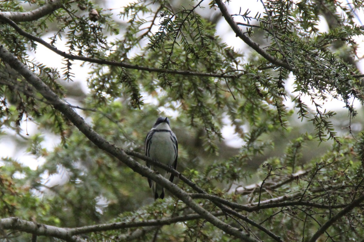
[[[169,126],[169,119],[159,117],[145,139],[145,155],[160,163],[169,165],[177,169],[178,143],[177,138]],[[147,162],[150,168],[150,164]],[[163,177],[166,177],[167,171],[162,168],[153,167]],[[169,181],[173,182],[174,175],[171,174]],[[148,178],[149,187],[152,188],[152,180]],[[158,183],[155,184],[154,198],[164,198],[164,188]]]

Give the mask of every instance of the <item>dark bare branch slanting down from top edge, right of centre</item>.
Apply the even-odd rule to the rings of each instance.
[[[237,37],[241,38],[247,45],[249,45],[251,48],[253,48],[256,52],[258,52],[258,54],[260,54],[262,57],[264,57],[266,60],[268,60],[272,64],[274,64],[276,66],[284,67],[285,69],[290,70],[290,71],[293,70],[288,65],[288,63],[281,61],[274,56],[271,56],[264,49],[260,48],[260,46],[256,42],[254,42],[248,36],[246,36],[241,31],[241,29],[239,28],[237,23],[234,21],[233,17],[229,14],[229,12],[227,11],[227,8],[223,4],[222,0],[215,0],[215,3],[218,5],[218,7],[222,13],[222,16],[225,18],[226,22],[230,25],[230,27],[235,32]]]

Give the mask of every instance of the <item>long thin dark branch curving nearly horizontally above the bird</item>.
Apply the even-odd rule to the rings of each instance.
[[[96,64],[100,64],[100,65],[119,66],[119,67],[123,67],[126,69],[142,70],[142,71],[149,71],[149,72],[156,72],[156,73],[168,73],[168,74],[178,74],[178,75],[198,76],[198,77],[238,78],[239,76],[242,75],[242,74],[226,75],[225,73],[201,73],[201,72],[196,72],[196,71],[160,69],[160,68],[154,68],[154,67],[132,65],[129,63],[124,63],[124,62],[108,61],[108,60],[95,59],[95,58],[89,58],[89,57],[84,57],[84,56],[75,56],[73,54],[67,54],[66,52],[63,52],[62,50],[57,49],[53,45],[48,44],[43,39],[33,36],[32,34],[29,34],[28,32],[25,32],[14,21],[8,19],[7,17],[4,17],[3,15],[0,15],[0,20],[3,22],[6,22],[10,26],[12,26],[16,30],[16,32],[18,32],[20,35],[27,37],[29,40],[38,42],[39,44],[52,50],[56,54],[66,58],[66,59],[69,59],[69,60],[86,61],[86,62],[96,63]]]

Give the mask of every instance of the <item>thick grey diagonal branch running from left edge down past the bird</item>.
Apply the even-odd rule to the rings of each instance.
[[[167,190],[169,190],[174,196],[183,201],[187,206],[189,206],[196,213],[201,215],[206,221],[210,222],[217,228],[221,229],[225,233],[232,235],[236,238],[240,238],[242,241],[256,242],[255,239],[250,238],[248,235],[242,233],[239,229],[236,229],[225,222],[219,220],[207,210],[203,209],[199,204],[193,201],[193,199],[188,196],[188,193],[183,191],[177,185],[171,183],[169,180],[165,179],[163,176],[156,174],[151,169],[147,168],[145,165],[139,164],[128,156],[122,149],[116,147],[115,145],[109,143],[106,139],[102,138],[98,133],[96,133],[91,126],[89,126],[84,119],[79,116],[71,107],[63,102],[35,73],[27,68],[23,63],[21,63],[17,58],[6,50],[3,46],[0,47],[0,58],[3,62],[7,63],[14,70],[16,70],[20,75],[22,75],[27,82],[29,82],[48,102],[52,103],[55,109],[59,110],[66,118],[68,118],[92,143],[94,143],[98,148],[110,153],[112,156],[116,157],[119,161],[126,164],[134,172],[141,174],[158,182]]]

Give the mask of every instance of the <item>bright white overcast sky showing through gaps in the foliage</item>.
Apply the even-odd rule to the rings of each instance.
[[[129,1],[112,1],[112,0],[110,0],[110,1],[105,1],[105,5],[101,6],[101,7],[103,7],[104,9],[111,9],[111,10],[107,10],[107,11],[111,11],[114,14],[115,20],[120,22],[122,20],[118,19],[118,16],[117,16],[117,14],[120,12],[120,10],[123,7],[120,4],[125,5],[128,2]],[[205,1],[205,3],[206,3],[205,10],[209,10],[209,8],[207,6],[208,2],[209,1]],[[349,2],[351,2],[351,1],[349,1]],[[192,4],[197,4],[197,2],[193,1]],[[228,9],[231,14],[234,14],[234,13],[239,12],[240,7],[242,7],[241,12],[245,12],[246,6],[249,6],[249,10],[251,11],[252,16],[254,16],[255,13],[257,13],[257,12],[264,14],[264,8],[263,8],[262,4],[260,3],[260,1],[232,0],[232,2],[230,2],[229,6],[228,6]],[[218,9],[215,10],[216,13],[218,13],[218,11],[219,11]],[[204,9],[198,9],[197,12],[200,13],[201,15],[203,15]],[[126,20],[124,20],[124,21],[126,21]],[[357,18],[355,19],[355,21],[357,22],[358,25],[362,25],[361,22],[364,21],[364,13],[363,12],[357,13]],[[325,32],[328,30],[328,26],[323,19],[321,20],[318,28],[320,29],[321,32]],[[154,30],[157,31],[158,27],[156,26]],[[122,36],[122,34],[123,34],[123,31],[120,31],[119,36],[111,36],[108,38],[108,40],[112,40],[114,38],[120,38]],[[252,51],[251,49],[248,48],[248,46],[246,46],[246,44],[242,40],[240,40],[240,38],[236,37],[236,35],[230,29],[229,25],[224,20],[218,22],[216,35],[221,36],[228,45],[233,46],[235,49],[245,51],[245,52]],[[52,33],[46,34],[43,39],[48,41],[48,38],[51,36],[52,36]],[[362,57],[362,56],[364,56],[364,37],[363,36],[357,37],[356,41],[357,41],[357,44],[359,44],[358,56]],[[67,48],[64,47],[64,43],[65,43],[65,41],[57,41],[56,47],[60,50],[66,51]],[[57,54],[55,54],[54,52],[51,52],[50,50],[48,50],[47,48],[43,47],[40,44],[37,47],[36,53],[35,54],[30,53],[30,56],[35,57],[35,59],[37,61],[39,61],[41,63],[45,63],[47,66],[55,67],[55,68],[58,68],[59,70],[61,67],[63,67],[63,65],[62,65],[63,57],[58,56]],[[89,65],[86,64],[83,67],[81,67],[80,66],[80,64],[82,63],[81,61],[72,61],[72,63],[73,63],[72,71],[75,74],[74,81],[79,82],[82,86],[82,89],[85,92],[88,92],[87,84],[86,84],[86,77],[87,77],[87,73],[90,69]],[[363,60],[361,60],[359,62],[359,68],[360,68],[361,73],[364,73],[364,61]],[[286,90],[288,90],[289,92],[292,92],[294,89],[292,86],[292,83],[293,83],[293,75],[291,75],[290,80],[286,83]],[[144,98],[144,102],[146,104],[155,101],[149,97],[144,96],[143,98]],[[306,100],[305,99],[303,99],[303,100],[305,101],[305,103],[307,105],[309,105],[311,103],[310,99],[306,98]],[[71,104],[79,105],[79,103],[77,103],[77,101],[75,101],[75,100],[67,99],[67,101],[70,102]],[[293,106],[293,104],[292,104],[292,102],[290,102],[290,100],[287,100],[285,102],[285,104],[288,107]],[[343,106],[344,106],[343,102],[332,100],[332,101],[326,102],[324,105],[324,108],[338,111],[340,109],[344,109]],[[357,102],[355,104],[355,106],[357,108],[360,108],[360,103]],[[76,110],[76,111],[78,111],[78,110]],[[176,113],[169,112],[169,110],[161,110],[161,111],[165,111],[166,115],[168,115],[168,116],[172,116],[172,117],[176,116]],[[79,112],[79,113],[82,115],[81,112]],[[225,119],[225,122],[226,122],[226,126],[222,129],[222,134],[223,134],[223,137],[225,138],[226,143],[231,146],[234,146],[234,147],[240,147],[242,145],[242,141],[239,138],[237,138],[237,136],[233,135],[234,129],[233,129],[233,127],[230,126],[230,124],[229,124],[230,122],[227,118]],[[151,126],[152,126],[152,124],[151,124]],[[27,129],[27,132],[29,135],[34,135],[37,133],[37,126],[29,120],[27,122],[23,122],[21,124],[21,128],[23,129],[22,134],[24,136],[26,136],[25,129]],[[172,128],[173,128],[173,123],[172,123]],[[10,136],[15,135],[15,132],[13,132],[11,130],[7,130],[7,132]],[[48,150],[52,150],[55,145],[58,145],[60,143],[60,138],[58,135],[49,134],[49,135],[46,135],[44,138],[45,138],[45,140],[42,144]],[[144,141],[141,141],[141,143],[143,143],[143,142]],[[6,157],[6,156],[13,157],[15,159],[18,159],[21,163],[28,165],[32,169],[36,169],[38,164],[43,163],[43,160],[42,159],[36,160],[33,155],[29,155],[25,152],[25,148],[26,147],[16,147],[16,143],[13,139],[11,139],[11,137],[2,136],[2,138],[0,139],[0,152],[1,152],[2,157]]]

